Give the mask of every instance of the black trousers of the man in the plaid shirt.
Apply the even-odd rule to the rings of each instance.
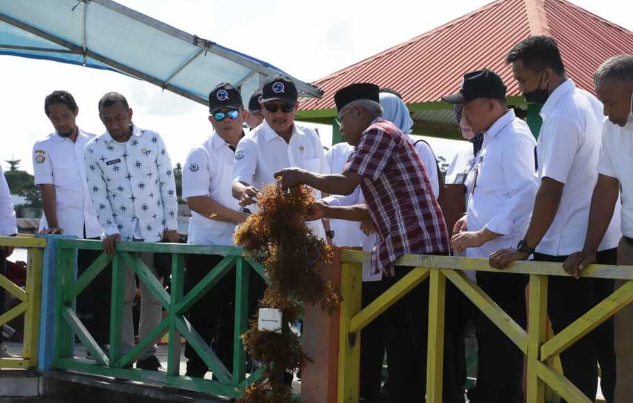
[[[395,277],[383,279],[389,288],[412,268],[396,266]],[[463,402],[463,379],[460,370],[464,356],[458,356],[458,307],[461,293],[450,281],[446,283],[444,305],[444,403]],[[426,353],[428,343],[428,281],[423,281],[407,295],[387,309],[384,318],[389,391],[392,403],[426,402]],[[361,343],[362,345],[362,343]],[[433,402],[435,403],[435,402]]]

